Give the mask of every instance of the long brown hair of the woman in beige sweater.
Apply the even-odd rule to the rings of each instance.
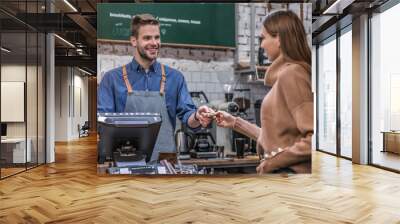
[[[283,56],[311,70],[311,50],[303,22],[292,11],[276,11],[263,22],[265,30],[273,37],[278,36]]]

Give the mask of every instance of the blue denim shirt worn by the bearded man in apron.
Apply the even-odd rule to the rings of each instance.
[[[126,65],[129,82],[133,91],[159,91],[161,81],[161,64],[154,62],[148,73],[135,59]],[[176,117],[188,124],[188,119],[196,111],[192,98],[181,72],[165,66],[165,101],[171,124],[175,129]],[[97,112],[124,112],[127,88],[122,78],[122,67],[112,69],[104,75],[97,93]]]

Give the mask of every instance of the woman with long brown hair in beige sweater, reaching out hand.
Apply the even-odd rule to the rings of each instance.
[[[216,114],[217,125],[257,140],[258,173],[311,173],[311,50],[303,23],[292,11],[271,13],[261,39],[272,61],[264,80],[272,88],[261,104],[261,128],[223,111]]]

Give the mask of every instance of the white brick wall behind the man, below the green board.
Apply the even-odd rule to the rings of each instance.
[[[129,46],[119,44],[98,45],[98,82],[106,71],[132,60],[132,56],[127,56],[132,54],[127,53],[130,49]],[[262,99],[266,94],[267,87],[262,84],[247,84],[247,77],[234,75],[232,51],[165,47],[158,61],[181,71],[189,91],[204,91],[210,101],[224,100],[225,84],[231,84],[232,89],[250,88],[251,92],[242,95],[251,98],[252,102]]]

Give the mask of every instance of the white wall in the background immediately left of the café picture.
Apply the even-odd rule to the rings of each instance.
[[[56,67],[55,141],[77,139],[78,124],[88,120],[88,78],[83,75],[76,68]]]

